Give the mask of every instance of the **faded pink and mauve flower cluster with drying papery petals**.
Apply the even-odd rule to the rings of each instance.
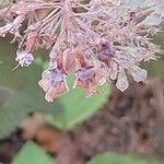
[[[0,36],[11,33],[19,43],[19,66],[30,66],[39,47],[50,49],[38,82],[49,102],[69,90],[70,73],[87,95],[106,81],[125,91],[127,75],[145,81],[140,62],[162,52],[151,38],[161,32],[163,0],[17,0],[0,10]]]

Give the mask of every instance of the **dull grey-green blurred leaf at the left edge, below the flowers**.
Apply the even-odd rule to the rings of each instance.
[[[28,87],[28,91],[31,87]],[[33,90],[34,94],[28,94],[25,90],[17,91],[3,103],[0,108],[0,138],[9,136],[23,119],[33,112],[45,114],[57,114],[62,106],[56,101],[48,103],[42,92]]]

